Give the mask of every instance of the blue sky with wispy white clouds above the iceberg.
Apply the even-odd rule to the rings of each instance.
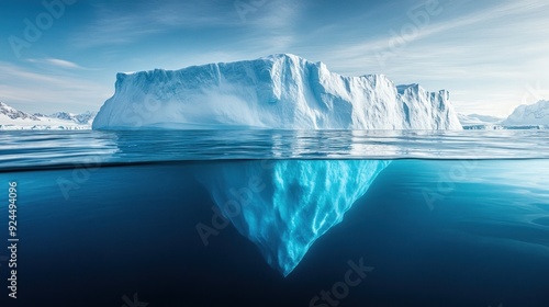
[[[0,0],[0,101],[97,111],[116,72],[289,53],[446,89],[459,113],[549,99],[545,0]]]

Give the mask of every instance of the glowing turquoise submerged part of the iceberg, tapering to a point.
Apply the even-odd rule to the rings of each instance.
[[[389,163],[255,160],[213,163],[197,177],[221,213],[285,276]]]

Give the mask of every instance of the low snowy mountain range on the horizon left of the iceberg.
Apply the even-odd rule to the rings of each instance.
[[[90,129],[94,112],[70,114],[58,112],[52,115],[29,114],[0,102],[0,130],[19,129]]]

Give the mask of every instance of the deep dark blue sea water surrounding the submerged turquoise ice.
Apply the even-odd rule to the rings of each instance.
[[[139,150],[127,149],[130,143],[120,140],[123,136],[109,136],[114,140],[108,138],[108,145],[90,152],[82,146],[71,151],[64,146],[67,135],[53,134],[47,136],[49,150],[41,149],[43,158],[29,149],[16,159],[4,159],[1,306],[131,306],[123,297],[133,300],[134,294],[148,306],[549,306],[549,159],[517,159],[531,158],[535,150],[524,155],[497,149],[495,141],[479,145],[478,152],[507,151],[513,159],[472,159],[467,148],[474,141],[458,141],[448,152],[460,149],[466,160],[401,155],[283,277],[234,227],[210,237],[208,247],[195,228],[211,220],[215,205],[197,180],[203,170],[228,164],[245,169],[256,160],[163,161],[163,155],[168,157],[166,152],[178,147],[175,138],[157,135],[165,146],[153,150],[147,141],[150,147],[136,155]],[[24,138],[2,137],[12,143]],[[72,137],[75,144],[90,144],[85,141],[87,134]],[[474,140],[475,135],[469,137]],[[269,139],[254,143],[250,150],[270,148],[272,154]],[[527,141],[540,148],[547,145],[542,137]],[[442,157],[448,144],[444,137],[446,145],[437,146],[428,137],[410,143],[427,144],[421,148],[430,144]],[[295,148],[284,141],[279,145],[284,146]],[[328,154],[337,151],[327,146]],[[406,146],[395,147],[391,152],[406,151]],[[7,150],[16,156],[18,149],[2,150],[8,157]],[[232,157],[234,150],[224,156]],[[238,155],[248,155],[243,147],[239,150]],[[64,157],[63,151],[76,154]],[[46,152],[51,158],[44,158]],[[126,163],[124,152],[133,155]],[[90,163],[93,155],[101,159]],[[288,158],[269,162],[280,161]],[[1,258],[7,255],[8,183],[13,181],[20,238],[16,300],[8,298],[8,262]],[[343,285],[349,261],[370,268],[355,286]],[[348,291],[340,298],[333,293],[322,298],[321,292],[333,292],[335,285]],[[315,296],[320,298],[313,300]]]

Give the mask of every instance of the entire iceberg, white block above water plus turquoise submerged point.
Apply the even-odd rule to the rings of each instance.
[[[94,129],[461,129],[447,91],[344,77],[273,55],[119,73]],[[243,161],[197,175],[221,213],[284,276],[344,218],[389,161]],[[200,234],[200,230],[199,230]],[[202,234],[203,235],[203,234]]]

